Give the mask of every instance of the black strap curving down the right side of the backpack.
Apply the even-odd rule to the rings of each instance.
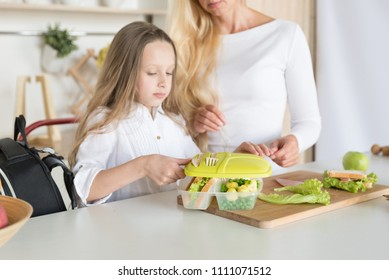
[[[76,208],[76,197],[75,197],[75,192],[74,192],[74,174],[73,172],[66,166],[66,164],[62,161],[62,157],[57,156],[55,154],[49,154],[45,156],[42,160],[46,164],[46,166],[49,168],[50,172],[53,170],[55,167],[61,167],[63,170],[63,177],[65,181],[65,186],[66,190],[68,192],[71,204],[72,204],[72,209]]]

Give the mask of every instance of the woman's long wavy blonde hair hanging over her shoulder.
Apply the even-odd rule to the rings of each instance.
[[[220,33],[213,24],[211,15],[203,10],[198,0],[173,0],[168,18],[168,33],[178,54],[178,101],[182,115],[190,127],[198,107],[218,103],[210,76],[216,68]],[[207,134],[196,135],[195,132],[190,132],[200,149],[206,150]]]

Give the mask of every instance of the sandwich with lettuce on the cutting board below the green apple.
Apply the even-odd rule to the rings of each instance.
[[[366,191],[377,182],[377,175],[356,170],[326,170],[323,175],[323,187],[337,188],[357,193]]]

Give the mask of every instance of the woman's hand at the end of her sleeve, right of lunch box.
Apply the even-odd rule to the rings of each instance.
[[[299,161],[299,147],[294,135],[279,138],[270,144],[270,158],[282,167],[296,165]]]

